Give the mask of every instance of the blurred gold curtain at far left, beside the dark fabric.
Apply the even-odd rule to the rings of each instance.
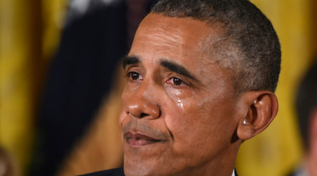
[[[0,0],[0,145],[25,174],[46,65],[59,40],[64,0]]]

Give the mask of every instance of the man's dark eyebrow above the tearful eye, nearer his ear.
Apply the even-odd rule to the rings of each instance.
[[[200,83],[200,81],[193,74],[191,74],[184,66],[182,66],[178,63],[162,59],[162,60],[160,60],[160,64],[163,67],[169,69],[170,71],[176,72],[177,74],[183,75],[185,77],[188,77],[188,78]]]

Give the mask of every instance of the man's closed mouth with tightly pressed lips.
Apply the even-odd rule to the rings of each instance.
[[[127,131],[126,133],[124,133],[124,137],[126,139],[126,142],[132,147],[140,147],[143,145],[164,142],[163,140],[154,139],[140,132],[135,133],[135,132]]]

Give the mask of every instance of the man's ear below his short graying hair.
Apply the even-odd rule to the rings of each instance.
[[[244,107],[248,110],[239,120],[237,136],[247,140],[265,130],[278,111],[275,94],[270,91],[247,92],[242,97]]]

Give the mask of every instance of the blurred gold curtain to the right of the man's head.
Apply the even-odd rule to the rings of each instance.
[[[236,160],[241,175],[286,175],[300,163],[302,145],[294,101],[316,50],[315,0],[251,0],[272,22],[282,48],[276,95],[279,112],[260,135],[245,141]],[[315,9],[315,10],[314,10]]]

